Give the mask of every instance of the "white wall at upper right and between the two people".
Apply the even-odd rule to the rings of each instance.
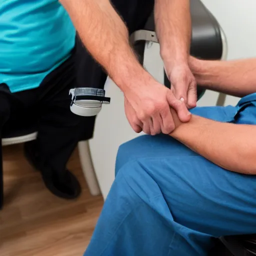
[[[228,59],[256,56],[256,0],[202,0],[219,21],[228,43]],[[162,81],[162,63],[159,46],[148,45],[146,68]],[[108,81],[107,95],[111,104],[103,106],[96,119],[94,138],[90,149],[96,175],[105,198],[114,179],[115,156],[118,146],[137,134],[130,128],[123,108],[121,91]],[[214,105],[217,93],[207,91],[198,105]],[[226,104],[235,104],[238,98],[227,97]]]

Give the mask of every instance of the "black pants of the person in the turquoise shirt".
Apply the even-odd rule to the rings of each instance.
[[[55,171],[65,169],[77,142],[90,138],[93,131],[93,117],[75,115],[69,108],[69,89],[83,85],[77,82],[77,53],[75,47],[71,57],[49,73],[38,88],[11,93],[6,84],[0,84],[1,137],[37,130],[40,159]]]

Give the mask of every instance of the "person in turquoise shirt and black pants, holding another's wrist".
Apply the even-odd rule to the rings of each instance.
[[[37,117],[37,139],[25,144],[25,154],[54,194],[78,196],[79,183],[65,165],[77,141],[92,136],[94,124],[94,117],[70,112],[68,91],[103,88],[103,69],[123,91],[134,130],[140,123],[150,134],[173,129],[167,106],[175,108],[179,99],[141,67],[129,45],[128,34],[142,28],[153,9],[172,88],[193,106],[195,80],[186,63],[189,1],[0,0],[0,131]],[[80,41],[75,45],[73,25],[86,50]],[[183,121],[189,119],[185,102],[177,107]]]

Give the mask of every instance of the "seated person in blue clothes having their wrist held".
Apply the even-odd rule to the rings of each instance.
[[[207,255],[214,237],[256,232],[256,58],[189,59],[197,84],[236,106],[171,109],[169,135],[124,143],[86,256]]]

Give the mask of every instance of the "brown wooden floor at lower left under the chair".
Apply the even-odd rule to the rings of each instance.
[[[77,200],[52,195],[23,157],[22,145],[3,148],[5,204],[0,211],[0,256],[82,256],[103,200],[90,195],[77,150],[68,167],[82,184]]]

